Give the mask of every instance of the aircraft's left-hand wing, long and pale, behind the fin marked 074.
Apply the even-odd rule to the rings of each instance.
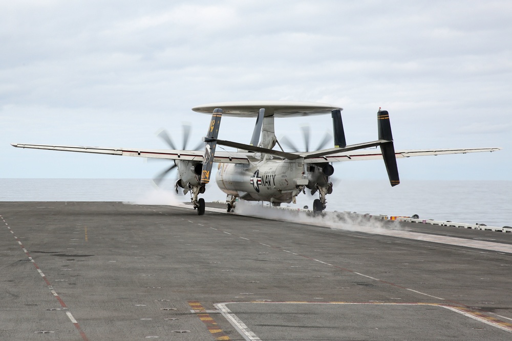
[[[93,153],[120,156],[138,156],[148,158],[166,158],[171,160],[203,161],[202,150],[174,150],[174,149],[137,149],[137,148],[104,148],[104,147],[84,147],[84,146],[56,146],[56,145],[31,145],[11,143],[13,147],[30,149],[47,149],[72,151],[79,153]],[[248,164],[250,152],[230,152],[216,151],[214,162]]]

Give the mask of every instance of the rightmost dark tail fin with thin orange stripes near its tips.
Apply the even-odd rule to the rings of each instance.
[[[380,110],[377,112],[377,127],[379,133],[379,140],[385,140],[380,145],[380,151],[382,152],[382,158],[388,171],[389,182],[391,186],[400,184],[400,178],[398,177],[398,167],[396,165],[395,147],[393,146],[393,134],[391,133],[391,123],[389,121],[389,113],[386,110]]]

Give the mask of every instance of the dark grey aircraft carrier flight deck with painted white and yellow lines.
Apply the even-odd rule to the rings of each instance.
[[[0,225],[1,340],[512,339],[512,233],[120,202]]]

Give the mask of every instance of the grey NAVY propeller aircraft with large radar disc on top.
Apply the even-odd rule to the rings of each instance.
[[[343,129],[343,110],[324,103],[286,102],[286,101],[250,101],[224,102],[200,105],[192,110],[211,113],[204,151],[177,149],[140,149],[140,148],[101,148],[81,146],[53,146],[12,144],[19,148],[49,149],[96,154],[138,156],[174,160],[164,173],[178,168],[178,180],[175,189],[190,192],[191,201],[198,215],[203,215],[205,203],[198,198],[209,183],[213,163],[219,163],[216,177],[217,185],[227,194],[227,210],[234,209],[237,198],[252,201],[268,201],[272,206],[282,202],[294,202],[298,194],[318,192],[313,201],[313,211],[326,209],[326,196],[332,193],[330,176],[334,173],[333,162],[383,159],[388,171],[391,186],[400,183],[396,158],[457,154],[484,151],[497,151],[501,148],[464,148],[464,149],[424,149],[398,150],[393,146],[391,124],[386,110],[377,112],[378,140],[347,145]],[[334,147],[315,151],[287,152],[275,137],[275,117],[300,117],[331,114],[333,124]],[[255,117],[256,123],[249,144],[218,139],[222,116]],[[260,139],[261,137],[261,139]],[[273,149],[275,145],[280,150]],[[238,151],[216,151],[217,145],[237,148]],[[380,151],[375,149],[380,147]],[[372,148],[373,149],[369,149]],[[184,147],[185,148],[185,147]]]

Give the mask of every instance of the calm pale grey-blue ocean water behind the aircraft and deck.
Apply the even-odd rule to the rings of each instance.
[[[215,183],[201,195],[206,201],[226,196]],[[301,194],[296,204],[312,208],[317,196]],[[174,204],[190,201],[176,195],[174,181],[160,188],[151,179],[0,179],[0,201],[123,201]],[[422,219],[512,226],[512,181],[340,180],[327,196],[328,211],[411,216]]]

